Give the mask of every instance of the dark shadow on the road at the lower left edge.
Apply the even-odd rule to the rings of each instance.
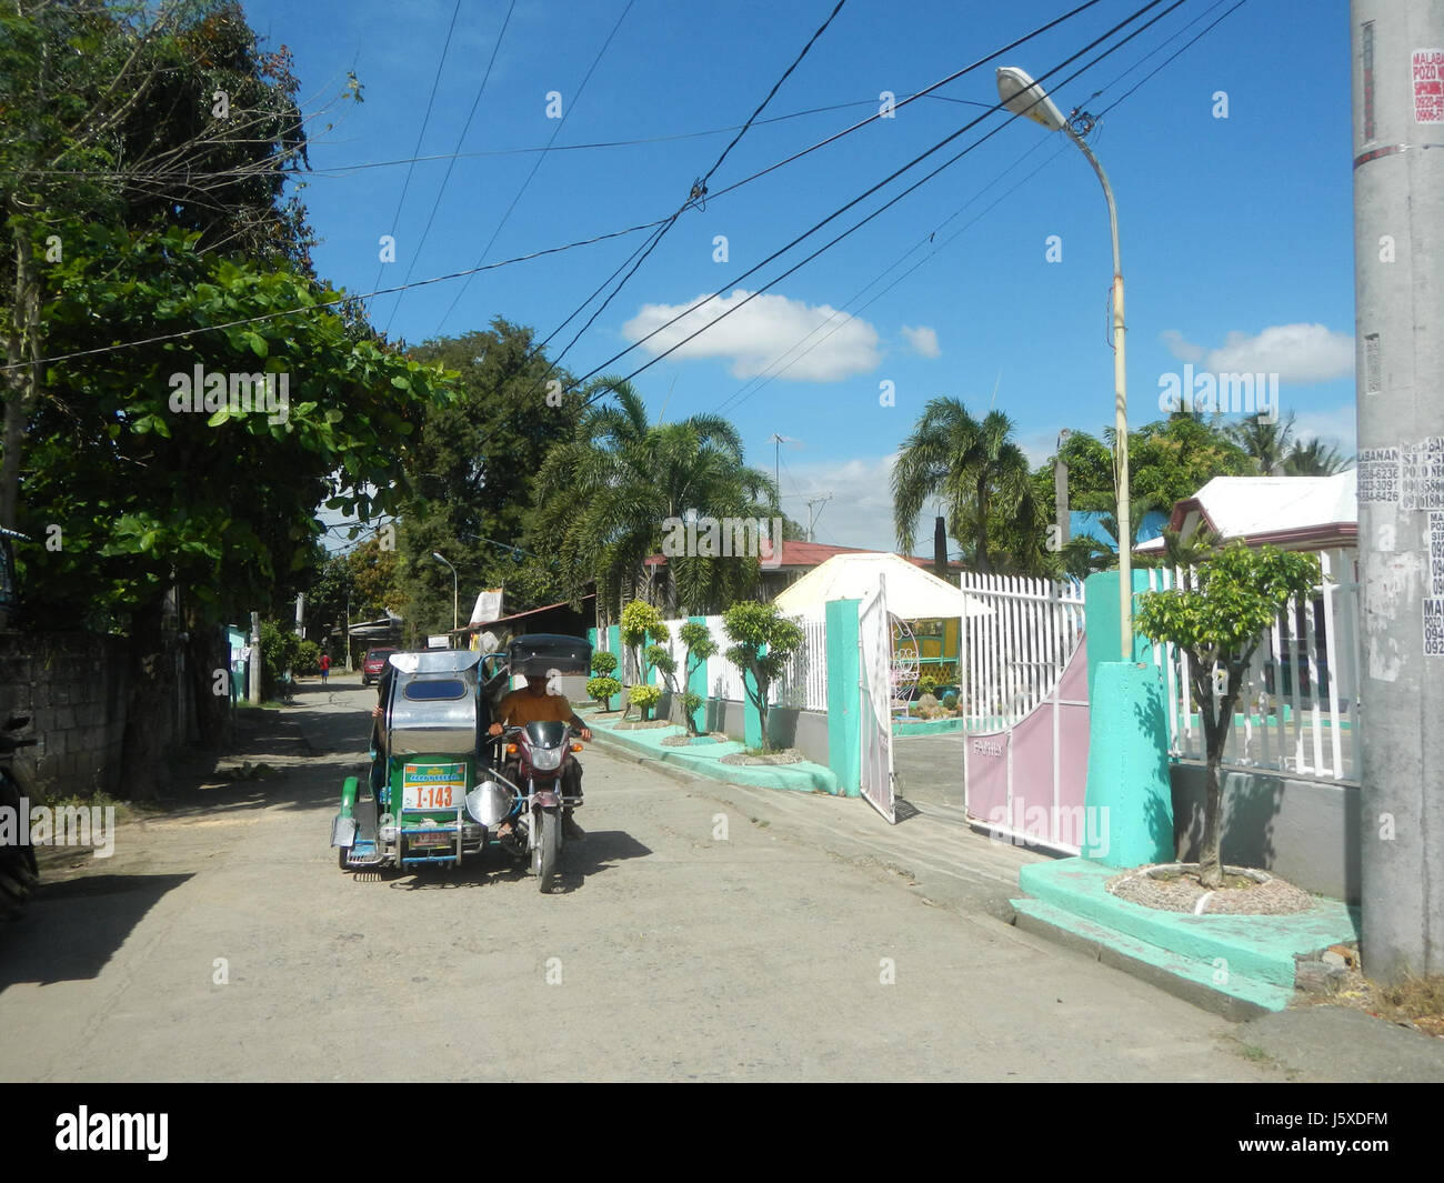
[[[136,924],[183,875],[87,875],[43,884],[19,920],[0,929],[0,992],[19,982],[95,978]]]

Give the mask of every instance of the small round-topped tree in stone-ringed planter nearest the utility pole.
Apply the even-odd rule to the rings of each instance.
[[[1151,641],[1170,643],[1187,654],[1193,696],[1203,715],[1207,771],[1199,878],[1206,888],[1223,883],[1219,764],[1245,673],[1288,601],[1308,595],[1318,579],[1313,555],[1235,543],[1206,559],[1191,585],[1139,597],[1135,627]]]

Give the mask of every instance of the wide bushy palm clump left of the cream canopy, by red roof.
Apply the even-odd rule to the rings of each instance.
[[[742,441],[726,419],[697,415],[650,423],[647,407],[622,378],[602,378],[615,404],[595,406],[570,441],[557,443],[537,474],[534,546],[556,553],[576,598],[596,581],[601,605],[647,584],[645,559],[661,549],[667,519],[767,517],[777,490],[742,459]],[[751,558],[669,559],[671,591],[693,611],[725,607],[757,582]]]

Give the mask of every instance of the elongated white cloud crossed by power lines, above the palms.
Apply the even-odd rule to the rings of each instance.
[[[718,296],[677,324],[663,329],[643,348],[653,355],[664,352],[684,337],[713,324],[728,309],[738,308],[748,292],[741,287],[731,296]],[[700,299],[700,296],[697,298]],[[680,305],[648,303],[622,325],[628,341],[637,342],[673,316],[684,312],[696,300]],[[803,338],[809,341],[799,347]],[[881,361],[878,331],[866,321],[838,312],[826,303],[809,306],[787,296],[757,296],[738,308],[715,328],[689,341],[671,357],[728,358],[732,377],[752,378],[783,361],[786,370],[777,377],[790,381],[842,381],[853,374],[866,374]]]

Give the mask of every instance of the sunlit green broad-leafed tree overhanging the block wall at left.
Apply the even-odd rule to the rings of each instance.
[[[150,344],[46,368],[26,423],[20,529],[45,537],[58,524],[62,545],[27,550],[26,582],[45,589],[39,627],[81,620],[131,637],[126,767],[146,792],[155,737],[166,734],[153,716],[172,675],[153,654],[165,649],[172,589],[185,589],[175,607],[192,646],[214,649],[211,625],[251,608],[277,612],[313,578],[318,503],[362,516],[394,508],[406,480],[396,442],[445,397],[445,378],[357,339],[318,306],[334,293],[306,277],[201,256],[193,234],[77,225],[66,243],[49,280],[48,351],[92,348],[97,325],[110,339]],[[290,308],[309,311],[193,332]],[[155,339],[180,331],[193,335]],[[192,383],[196,367],[227,384],[225,407],[182,409],[178,380]],[[273,413],[253,402],[232,415],[232,389],[237,403],[243,393],[266,402],[264,376]],[[204,647],[186,663],[198,676],[218,664]],[[195,696],[202,711],[214,699],[199,686]]]

